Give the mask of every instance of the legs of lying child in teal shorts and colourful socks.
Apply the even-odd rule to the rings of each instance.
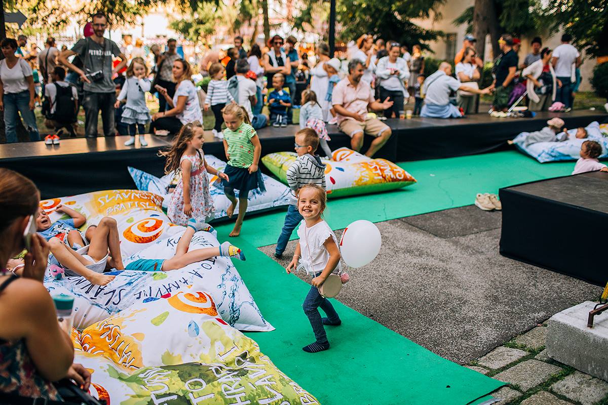
[[[204,222],[197,222],[191,218],[188,220],[188,225],[184,234],[179,238],[178,246],[175,248],[175,254],[171,259],[137,259],[134,262],[126,265],[125,270],[139,271],[170,271],[178,268],[186,267],[189,264],[201,262],[212,257],[236,257],[240,260],[245,260],[245,255],[236,246],[230,245],[229,242],[224,242],[216,248],[202,248],[188,251],[192,237],[196,231],[209,230],[211,227]]]

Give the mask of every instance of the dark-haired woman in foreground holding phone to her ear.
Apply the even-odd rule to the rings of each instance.
[[[28,232],[40,192],[31,180],[0,169],[0,392],[61,400],[52,381],[72,378],[88,389],[91,374],[74,361],[70,336],[57,322],[53,300],[43,285],[49,244]],[[27,235],[26,235],[27,234]],[[29,239],[17,276],[12,270]]]

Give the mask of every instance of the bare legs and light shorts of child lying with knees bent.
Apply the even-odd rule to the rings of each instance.
[[[85,237],[91,240],[91,243],[78,251],[67,247],[58,237],[50,238],[52,256],[49,256],[49,264],[63,267],[68,276],[83,276],[91,284],[106,285],[114,279],[114,276],[102,274],[103,271],[125,268],[120,254],[116,220],[103,217],[98,225],[89,226]]]

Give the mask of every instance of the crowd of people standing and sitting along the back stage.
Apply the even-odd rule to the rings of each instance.
[[[40,139],[34,107],[42,95],[44,124],[54,132],[45,138],[47,144],[58,143],[65,131],[75,136],[80,106],[85,111],[85,136],[90,138],[97,137],[99,114],[103,135],[130,135],[125,142],[130,146],[139,134],[145,146],[143,134],[177,134],[187,123],[202,122],[207,111],[215,117],[213,135],[223,138],[222,110],[236,103],[244,107],[254,129],[293,124],[298,116],[294,112],[300,109],[304,121],[300,125],[313,128],[322,141],[328,140],[327,123],[338,124],[357,151],[364,134],[370,135],[375,138],[366,152],[371,156],[390,137],[390,128],[382,122],[385,118],[460,118],[476,112],[478,96],[490,93],[494,94],[492,115],[498,117],[505,116],[523,94],[531,111],[570,111],[581,81],[581,56],[568,34],[554,50],[543,48],[541,39],[534,38],[521,65],[519,39],[502,35],[492,84],[480,89],[484,65],[472,35],[465,36],[454,64],[444,61],[426,77],[419,44],[410,53],[405,45],[369,34],[340,52],[342,59],[332,58],[325,43],[317,44],[314,55],[300,52],[292,35],[285,39],[274,35],[265,46],[252,43],[249,50],[237,36],[234,46],[225,51],[209,49],[193,66],[183,52],[177,52],[176,39],[168,39],[165,50],[154,44],[147,56],[140,39],[121,48],[105,38],[107,25],[103,13],[95,14],[85,26],[85,38],[71,49],[59,50],[52,37],[41,52],[35,46],[24,52],[24,36],[2,41],[0,109],[4,109],[7,141],[17,140],[19,113],[30,140]],[[195,85],[195,76],[209,77],[206,93]],[[158,98],[154,114],[148,109],[147,94]],[[410,101],[413,111],[406,114]],[[328,153],[325,146],[323,152]]]

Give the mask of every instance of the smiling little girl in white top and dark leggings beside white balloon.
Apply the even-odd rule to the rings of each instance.
[[[287,273],[291,273],[302,266],[306,273],[314,276],[313,285],[302,305],[316,338],[316,341],[302,348],[308,353],[322,352],[330,348],[323,325],[342,324],[333,305],[319,293],[318,288],[331,273],[340,270],[340,250],[336,235],[321,217],[326,202],[327,194],[321,186],[308,184],[300,188],[298,211],[304,219],[298,228],[300,240],[295,247],[294,257],[285,268]],[[321,318],[319,307],[327,315],[326,318]]]

